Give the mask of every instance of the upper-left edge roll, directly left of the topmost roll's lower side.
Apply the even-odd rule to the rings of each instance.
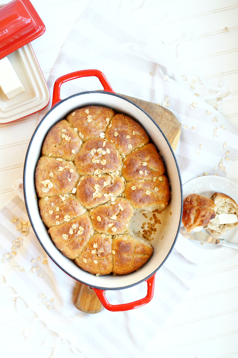
[[[42,147],[42,155],[51,154],[66,160],[74,160],[83,141],[66,120],[56,123],[48,132]]]

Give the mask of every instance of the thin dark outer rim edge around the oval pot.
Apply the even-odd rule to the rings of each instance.
[[[150,275],[148,275],[147,277],[145,277],[144,279],[138,281],[138,282],[135,282],[134,284],[131,284],[131,285],[127,285],[127,286],[123,286],[123,287],[101,287],[101,286],[95,286],[95,285],[89,285],[88,283],[84,282],[84,281],[81,281],[79,279],[77,279],[75,276],[71,275],[68,271],[66,271],[64,269],[64,267],[62,267],[55,259],[53,256],[51,256],[51,254],[48,252],[48,250],[46,250],[45,246],[43,245],[43,243],[41,242],[40,240],[40,237],[38,236],[38,233],[35,229],[35,226],[33,224],[33,221],[31,219],[31,214],[30,214],[30,211],[29,211],[29,207],[28,207],[28,202],[27,202],[27,198],[26,198],[26,187],[25,187],[25,175],[26,175],[26,163],[27,163],[27,160],[28,160],[28,154],[29,154],[29,151],[30,151],[30,148],[31,148],[31,144],[33,142],[33,139],[35,137],[35,134],[36,132],[38,131],[39,127],[41,126],[41,123],[46,119],[46,117],[49,115],[50,112],[52,112],[54,110],[55,107],[58,107],[61,105],[61,103],[69,100],[70,98],[73,98],[73,97],[76,97],[76,96],[81,96],[81,95],[86,95],[86,94],[89,94],[89,93],[102,93],[102,94],[106,94],[106,95],[110,95],[110,96],[115,96],[115,97],[119,97],[119,98],[122,98],[124,101],[127,101],[129,103],[131,103],[133,106],[139,108],[139,110],[141,110],[143,113],[145,113],[145,115],[147,115],[147,117],[155,124],[155,126],[158,128],[158,130],[160,131],[160,133],[163,135],[165,141],[167,142],[168,146],[169,146],[169,149],[173,155],[173,158],[174,158],[174,161],[175,161],[175,165],[177,167],[177,171],[178,171],[178,176],[179,176],[179,183],[180,183],[180,193],[181,193],[181,209],[180,209],[180,220],[179,220],[179,226],[178,226],[178,230],[177,230],[177,234],[175,236],[175,239],[174,239],[174,242],[173,242],[173,245],[171,246],[167,256],[165,257],[164,261],[159,265],[159,267],[154,270]],[[172,252],[173,248],[174,248],[174,245],[175,245],[175,242],[177,241],[177,238],[178,238],[178,234],[179,234],[179,229],[180,229],[180,226],[181,226],[181,222],[182,222],[182,214],[183,214],[183,188],[182,188],[182,180],[181,180],[181,176],[180,176],[180,171],[179,171],[179,167],[178,167],[178,163],[177,163],[177,160],[175,158],[175,155],[174,155],[174,152],[173,152],[173,149],[171,147],[171,145],[169,144],[169,141],[168,139],[165,137],[163,131],[160,129],[160,127],[158,126],[158,124],[153,120],[152,117],[150,117],[148,115],[147,112],[145,112],[142,108],[140,108],[138,105],[136,105],[134,102],[128,100],[127,98],[123,97],[123,96],[120,96],[120,95],[117,95],[116,93],[112,93],[112,92],[106,92],[106,91],[85,91],[85,92],[80,92],[80,93],[76,93],[75,95],[72,95],[72,96],[69,96],[67,98],[65,98],[64,100],[61,100],[59,101],[58,103],[56,103],[56,105],[54,107],[52,107],[47,113],[46,115],[42,118],[42,120],[40,121],[40,123],[38,124],[38,126],[36,127],[34,133],[33,133],[33,136],[31,137],[31,140],[30,140],[30,143],[29,143],[29,146],[28,146],[28,149],[27,149],[27,152],[26,152],[26,158],[25,158],[25,163],[24,163],[24,171],[23,171],[23,188],[24,188],[24,199],[25,199],[25,204],[26,204],[26,211],[28,213],[28,217],[29,217],[29,220],[30,220],[30,223],[31,223],[31,226],[33,228],[33,231],[36,235],[36,237],[38,238],[38,241],[40,242],[40,245],[43,247],[43,249],[45,250],[45,252],[47,253],[47,255],[51,258],[52,261],[54,261],[54,263],[62,270],[64,271],[68,276],[72,277],[74,280],[76,281],[79,281],[81,282],[82,284],[86,285],[86,286],[89,286],[89,287],[93,287],[95,289],[99,289],[99,290],[112,290],[112,291],[115,291],[115,290],[124,290],[124,289],[128,289],[130,287],[133,287],[133,286],[136,286],[136,285],[139,285],[140,283],[148,280],[151,276],[153,276],[159,269],[160,267],[164,264],[164,262],[167,260],[167,258],[169,257],[170,253]]]

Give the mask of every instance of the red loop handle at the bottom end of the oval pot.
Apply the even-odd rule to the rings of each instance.
[[[95,294],[98,296],[101,304],[109,311],[128,311],[134,308],[139,308],[141,306],[146,305],[149,303],[154,295],[154,281],[155,281],[155,274],[151,276],[147,281],[147,295],[142,298],[141,300],[137,300],[130,303],[124,303],[122,305],[111,305],[105,297],[105,291],[99,289],[92,289],[95,291]]]

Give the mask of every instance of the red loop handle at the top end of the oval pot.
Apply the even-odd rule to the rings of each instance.
[[[53,107],[56,103],[61,101],[60,86],[62,83],[71,81],[71,79],[80,78],[80,77],[90,77],[90,76],[98,77],[99,81],[103,85],[104,91],[115,93],[113,91],[113,89],[111,88],[108,80],[104,76],[104,74],[101,71],[99,71],[98,69],[85,69],[82,71],[71,72],[71,73],[65,74],[64,76],[61,76],[58,79],[56,79],[55,84],[54,84],[54,89],[53,89],[52,106],[51,107]]]

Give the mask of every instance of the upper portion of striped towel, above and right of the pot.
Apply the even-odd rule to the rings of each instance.
[[[194,95],[196,83],[183,83],[186,74],[158,34],[120,13],[111,1],[93,0],[81,15],[51,71],[51,95],[58,77],[91,68],[102,71],[116,93],[160,103],[174,113],[182,129],[176,158],[183,183],[203,174],[226,175],[238,154],[238,130]],[[101,89],[98,79],[80,78],[64,83],[60,96],[95,89]]]

